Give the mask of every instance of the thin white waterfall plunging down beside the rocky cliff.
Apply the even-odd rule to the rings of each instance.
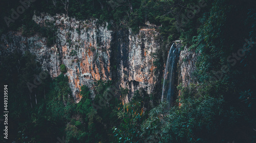
[[[175,92],[175,69],[176,69],[176,58],[179,56],[179,50],[176,48],[175,43],[170,47],[163,79],[163,89],[161,101],[168,101],[169,105],[173,103],[174,92]]]

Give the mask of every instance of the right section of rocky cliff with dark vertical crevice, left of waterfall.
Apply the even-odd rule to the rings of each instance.
[[[131,30],[121,30],[113,34],[116,42],[113,48],[116,50],[113,54],[115,78],[120,83],[120,87],[129,89],[129,96],[126,102],[131,98],[131,93],[142,88],[147,94],[151,94],[154,84],[160,80],[159,76],[154,74],[153,53],[160,49],[160,44],[154,37],[159,35],[152,27],[141,28],[138,34],[133,34]],[[113,77],[114,78],[114,77]]]

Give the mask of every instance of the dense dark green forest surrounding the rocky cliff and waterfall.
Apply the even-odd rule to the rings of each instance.
[[[1,88],[4,84],[9,88],[9,142],[57,142],[62,136],[66,142],[256,142],[254,1],[2,0],[0,4],[1,35],[38,34],[52,46],[56,27],[32,20],[41,12],[98,19],[98,23],[109,22],[112,31],[131,28],[134,33],[149,21],[161,33],[162,45],[154,61],[157,70],[164,70],[168,45],[175,40],[199,54],[193,73],[197,84],[177,87],[181,94],[175,106],[156,103],[160,92],[150,96],[139,90],[130,103],[123,104],[120,99],[127,89],[119,89],[114,90],[118,97],[98,110],[92,104],[98,105],[115,89],[116,81],[97,81],[95,98],[82,86],[82,99],[75,103],[69,96],[65,65],[62,74],[54,79],[47,75],[31,92],[27,82],[42,71],[35,55],[1,54]],[[4,129],[4,124],[0,127]],[[0,136],[1,142],[8,142],[3,133]]]

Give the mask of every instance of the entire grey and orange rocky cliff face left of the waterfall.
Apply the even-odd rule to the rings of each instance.
[[[57,77],[60,65],[67,67],[66,75],[73,97],[80,101],[80,87],[87,85],[94,95],[93,82],[115,80],[119,88],[129,89],[131,95],[140,88],[147,94],[153,92],[158,75],[154,75],[153,53],[159,49],[154,37],[159,35],[152,25],[141,28],[138,34],[131,30],[108,30],[108,23],[98,24],[96,19],[76,20],[66,15],[41,14],[33,20],[39,25],[51,22],[57,28],[53,46],[47,46],[46,38],[38,35],[24,37],[21,32],[9,32],[1,37],[1,54],[18,49],[37,56],[42,68],[51,77]],[[153,25],[154,26],[154,25]]]

